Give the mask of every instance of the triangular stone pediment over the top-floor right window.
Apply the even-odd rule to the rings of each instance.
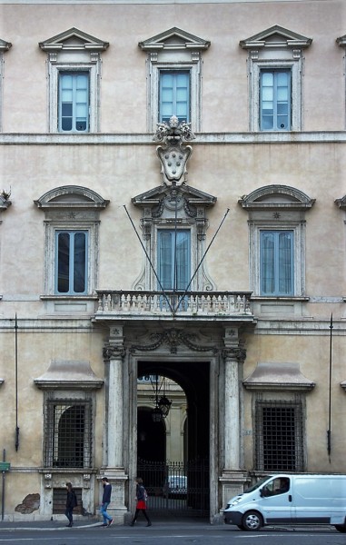
[[[243,49],[261,49],[262,47],[296,47],[301,49],[311,45],[311,42],[311,38],[299,35],[282,26],[273,25],[250,38],[241,40],[240,45]]]

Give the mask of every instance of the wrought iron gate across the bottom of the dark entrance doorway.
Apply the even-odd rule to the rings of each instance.
[[[137,474],[148,492],[148,508],[161,515],[209,515],[209,464],[138,460]]]

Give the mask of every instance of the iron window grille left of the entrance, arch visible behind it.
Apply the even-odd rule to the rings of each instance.
[[[48,401],[44,464],[54,468],[92,466],[91,401]]]

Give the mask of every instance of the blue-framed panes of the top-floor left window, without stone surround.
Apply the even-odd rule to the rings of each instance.
[[[89,73],[59,73],[59,131],[89,130]]]

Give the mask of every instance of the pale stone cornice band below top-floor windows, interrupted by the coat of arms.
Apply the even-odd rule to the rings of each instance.
[[[342,144],[346,131],[311,131],[302,133],[195,133],[193,145],[198,144]],[[90,145],[90,144],[151,144],[152,133],[113,134],[57,134],[57,133],[1,133],[0,144],[16,145]]]

